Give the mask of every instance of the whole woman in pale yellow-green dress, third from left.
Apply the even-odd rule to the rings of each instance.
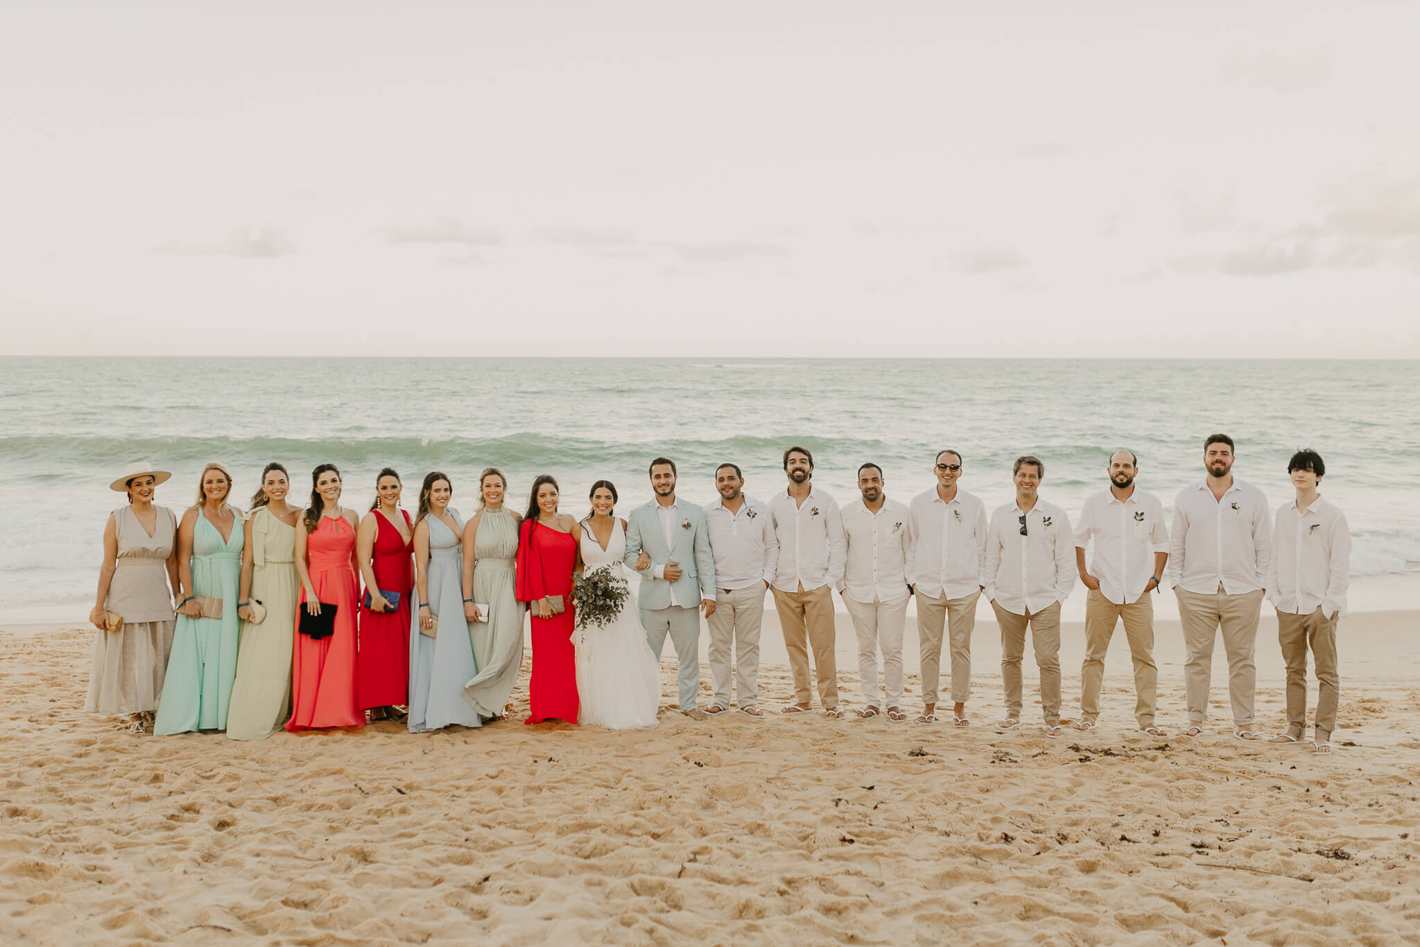
[[[301,592],[295,521],[301,511],[285,501],[290,488],[285,467],[267,464],[247,514],[237,596],[241,643],[227,708],[227,735],[233,740],[266,740],[291,716],[291,646]],[[254,620],[261,612],[261,620]]]

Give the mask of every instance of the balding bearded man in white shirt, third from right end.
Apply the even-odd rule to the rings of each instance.
[[[1129,656],[1135,662],[1135,720],[1150,737],[1167,737],[1154,726],[1159,666],[1153,660],[1153,601],[1169,559],[1169,527],[1163,503],[1135,483],[1139,459],[1132,450],[1109,454],[1105,467],[1109,488],[1085,500],[1075,524],[1075,564],[1085,596],[1085,663],[1081,667],[1079,723],[1092,730],[1099,720],[1099,691],[1105,680],[1105,655],[1115,626],[1123,619]],[[1085,568],[1085,547],[1095,541],[1095,557]]]

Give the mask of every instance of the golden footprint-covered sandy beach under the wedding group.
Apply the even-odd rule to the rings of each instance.
[[[772,609],[771,609],[772,612]],[[909,618],[907,667],[916,667]],[[995,626],[976,726],[821,716],[650,733],[132,737],[82,713],[92,632],[0,630],[0,931],[21,944],[1420,943],[1420,613],[1342,622],[1336,752],[1234,740],[1221,645],[1213,730],[1183,720],[1160,620],[1160,724],[1133,730],[1122,632],[1100,727],[997,733]],[[1082,633],[1066,623],[1064,701]],[[763,701],[790,694],[772,615]],[[845,706],[859,706],[839,616]],[[1028,652],[1030,655],[1030,652]],[[665,694],[674,690],[663,664]],[[1314,694],[1315,694],[1315,684]],[[701,672],[703,703],[709,670]],[[920,706],[909,676],[907,707]],[[1258,724],[1282,726],[1275,620]]]

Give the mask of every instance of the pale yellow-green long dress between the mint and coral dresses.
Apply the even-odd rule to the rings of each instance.
[[[266,606],[260,625],[241,622],[237,680],[227,708],[227,735],[266,740],[291,716],[291,646],[301,579],[295,574],[295,527],[257,507],[251,521],[251,591]]]

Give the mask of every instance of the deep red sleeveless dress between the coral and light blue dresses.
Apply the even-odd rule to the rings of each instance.
[[[399,513],[409,527],[409,542],[383,513],[375,511],[379,518],[375,520],[371,568],[381,589],[399,592],[399,606],[393,612],[372,612],[361,596],[359,706],[364,710],[409,703],[409,589],[415,585],[415,524],[408,513]]]

